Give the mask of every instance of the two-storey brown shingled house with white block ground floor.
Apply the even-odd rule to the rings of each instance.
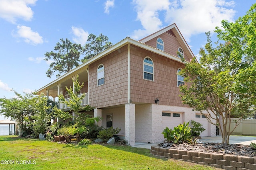
[[[194,57],[174,23],[140,41],[126,37],[36,92],[53,98],[63,94],[68,100],[65,87],[72,86],[78,74],[84,82],[81,92],[86,93],[82,105],[95,108],[92,114],[102,117],[98,125],[120,128],[118,135],[131,146],[163,141],[166,126],[173,129],[191,119],[203,123],[206,131],[201,136],[215,136],[214,125],[182,104],[179,86],[184,78],[177,75],[184,68],[180,55],[186,61]]]

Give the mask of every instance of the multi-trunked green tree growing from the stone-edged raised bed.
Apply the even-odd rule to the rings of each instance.
[[[180,75],[186,84],[180,86],[181,99],[194,110],[204,114],[208,112],[208,121],[216,126],[222,134],[222,143],[229,143],[229,136],[239,125],[242,117],[252,105],[246,91],[241,91],[240,69],[244,68],[242,58],[230,42],[212,45],[210,32],[206,33],[205,49],[200,49],[200,63],[196,59],[185,63]],[[230,129],[232,113],[240,119],[234,129]]]

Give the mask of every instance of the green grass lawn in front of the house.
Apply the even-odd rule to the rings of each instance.
[[[84,170],[212,170],[210,166],[160,158],[149,149],[116,145],[58,144],[39,139],[0,136],[0,164],[4,170],[84,169]],[[16,161],[31,161],[18,164]]]

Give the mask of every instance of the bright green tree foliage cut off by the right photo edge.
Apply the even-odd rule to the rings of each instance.
[[[220,40],[232,43],[237,59],[242,60],[237,88],[254,99],[256,105],[256,4],[253,4],[245,16],[239,17],[234,23],[222,20],[222,28],[216,27],[215,32]]]

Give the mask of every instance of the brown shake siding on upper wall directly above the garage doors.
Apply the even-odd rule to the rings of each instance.
[[[154,81],[143,79],[143,60],[150,57],[154,63]],[[177,87],[177,70],[184,64],[131,45],[131,100],[161,105],[184,107]]]

